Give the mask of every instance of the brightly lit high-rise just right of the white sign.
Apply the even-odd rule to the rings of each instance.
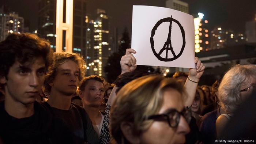
[[[196,16],[195,16],[196,17]],[[208,50],[210,48],[210,35],[208,29],[208,20],[204,19],[204,14],[198,13],[194,18],[195,24],[195,52]]]

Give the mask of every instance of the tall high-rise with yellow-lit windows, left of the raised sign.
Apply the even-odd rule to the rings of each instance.
[[[93,28],[91,27],[92,21],[87,23],[87,31],[91,31],[87,37],[91,39],[87,42],[86,55],[87,61],[91,61],[87,65],[87,72],[92,72],[95,75],[105,76],[103,67],[107,64],[108,57],[111,53],[109,43],[109,18],[105,10],[97,9],[97,18],[93,21]],[[89,36],[90,35],[90,36]],[[93,38],[91,37],[93,35]]]

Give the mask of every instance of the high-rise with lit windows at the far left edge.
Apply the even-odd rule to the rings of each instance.
[[[0,8],[0,41],[3,41],[11,33],[23,33],[24,19],[15,12]]]

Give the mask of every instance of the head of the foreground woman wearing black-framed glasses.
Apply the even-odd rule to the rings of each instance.
[[[110,129],[118,144],[182,144],[191,113],[182,85],[148,75],[126,84],[111,110]]]

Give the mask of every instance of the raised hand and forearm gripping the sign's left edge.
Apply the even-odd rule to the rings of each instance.
[[[134,49],[126,49],[125,55],[121,57],[120,65],[121,65],[121,75],[126,72],[134,71],[137,67],[136,65],[136,58],[133,56],[132,53],[136,53]],[[112,105],[114,100],[116,99],[116,90],[117,87],[114,86],[112,89],[109,99],[108,99],[108,105]]]

